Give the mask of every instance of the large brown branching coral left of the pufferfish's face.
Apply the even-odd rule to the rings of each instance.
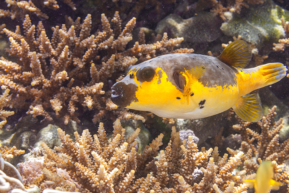
[[[112,105],[109,99],[108,79],[113,73],[124,71],[137,61],[144,61],[157,55],[175,52],[193,52],[192,49],[173,48],[183,38],[168,39],[164,34],[160,41],[152,44],[135,42],[132,48],[126,45],[132,40],[131,31],[136,19],[131,19],[121,29],[121,19],[115,13],[112,23],[101,14],[102,30],[91,34],[91,15],[80,23],[80,18],[71,21],[71,26],[52,27],[48,38],[42,22],[32,24],[28,15],[23,22],[23,32],[17,26],[15,32],[3,29],[9,37],[8,53],[17,61],[0,58],[0,85],[12,92],[9,106],[29,109],[27,114],[42,115],[52,120],[51,112],[69,120],[80,122],[79,112],[93,109],[93,122],[101,120],[109,111],[122,118],[125,109]],[[140,32],[140,37],[143,32]],[[144,43],[143,39],[140,42]],[[112,80],[114,81],[114,80]],[[127,116],[144,121],[142,116]],[[126,117],[127,117],[126,116]]]

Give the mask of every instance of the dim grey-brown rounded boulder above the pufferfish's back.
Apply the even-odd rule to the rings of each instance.
[[[221,36],[221,19],[213,14],[198,14],[189,19],[182,19],[177,14],[170,14],[160,21],[155,29],[158,34],[168,33],[169,37],[183,37],[185,42],[212,42]]]

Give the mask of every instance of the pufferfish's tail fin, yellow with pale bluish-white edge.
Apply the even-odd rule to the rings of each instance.
[[[288,70],[282,63],[268,63],[259,67],[260,73],[264,77],[264,86],[278,82],[286,76],[286,71]]]

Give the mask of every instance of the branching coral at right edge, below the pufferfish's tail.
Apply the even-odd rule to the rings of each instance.
[[[236,116],[239,124],[234,125],[233,128],[241,134],[241,147],[238,150],[227,148],[227,151],[231,155],[236,155],[239,151],[244,152],[242,166],[249,174],[255,173],[262,161],[272,161],[274,178],[288,184],[289,171],[283,171],[282,169],[284,168],[284,161],[289,159],[289,139],[282,143],[279,142],[279,131],[283,126],[283,119],[280,118],[277,122],[273,122],[273,118],[277,115],[276,108],[276,106],[273,106],[268,109],[269,113],[257,122],[260,132],[248,128],[251,122],[244,122]]]

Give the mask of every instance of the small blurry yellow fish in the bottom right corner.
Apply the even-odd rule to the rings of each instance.
[[[256,172],[256,179],[244,180],[244,183],[255,187],[256,193],[268,193],[271,189],[278,190],[279,186],[284,185],[281,182],[273,180],[273,164],[271,161],[262,161]]]

